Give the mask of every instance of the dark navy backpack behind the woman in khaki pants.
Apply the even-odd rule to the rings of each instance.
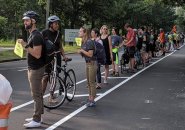
[[[94,47],[95,47],[95,57],[97,59],[97,62],[101,65],[105,65],[106,63],[106,54],[104,46],[99,43],[98,41],[93,40]]]

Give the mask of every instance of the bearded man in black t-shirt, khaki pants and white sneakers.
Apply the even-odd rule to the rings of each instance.
[[[25,29],[29,31],[30,36],[28,43],[23,39],[18,39],[18,42],[27,51],[28,61],[28,80],[30,83],[31,95],[34,100],[34,114],[32,118],[25,119],[26,128],[34,128],[41,126],[41,115],[44,113],[43,108],[43,93],[42,93],[42,76],[44,74],[44,56],[42,53],[43,38],[41,33],[36,28],[39,15],[34,11],[27,11],[23,14]]]

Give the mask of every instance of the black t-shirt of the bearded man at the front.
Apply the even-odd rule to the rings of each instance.
[[[33,46],[40,46],[43,45],[43,38],[41,33],[38,30],[34,30],[31,32],[29,38],[28,38],[28,44],[31,48]],[[43,50],[42,50],[43,53]],[[27,55],[28,59],[28,68],[36,70],[44,66],[44,57],[41,55],[39,59],[33,57],[30,53]]]

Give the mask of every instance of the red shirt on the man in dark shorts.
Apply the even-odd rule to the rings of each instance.
[[[132,28],[129,28],[126,38],[127,42],[129,42],[133,38],[132,41],[127,44],[127,46],[131,47],[136,45],[136,34]]]

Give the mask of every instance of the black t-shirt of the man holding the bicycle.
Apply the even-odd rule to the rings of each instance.
[[[55,42],[55,39],[57,37],[57,33],[58,33],[57,31],[52,32],[49,29],[45,29],[45,30],[42,31],[43,37],[45,39],[49,39],[53,43]],[[56,39],[56,42],[54,43],[55,44],[55,47],[56,47],[55,48],[56,51],[59,51],[60,48],[62,47],[62,44],[60,42],[61,41],[61,38],[62,38],[62,34],[59,32],[58,37]]]

